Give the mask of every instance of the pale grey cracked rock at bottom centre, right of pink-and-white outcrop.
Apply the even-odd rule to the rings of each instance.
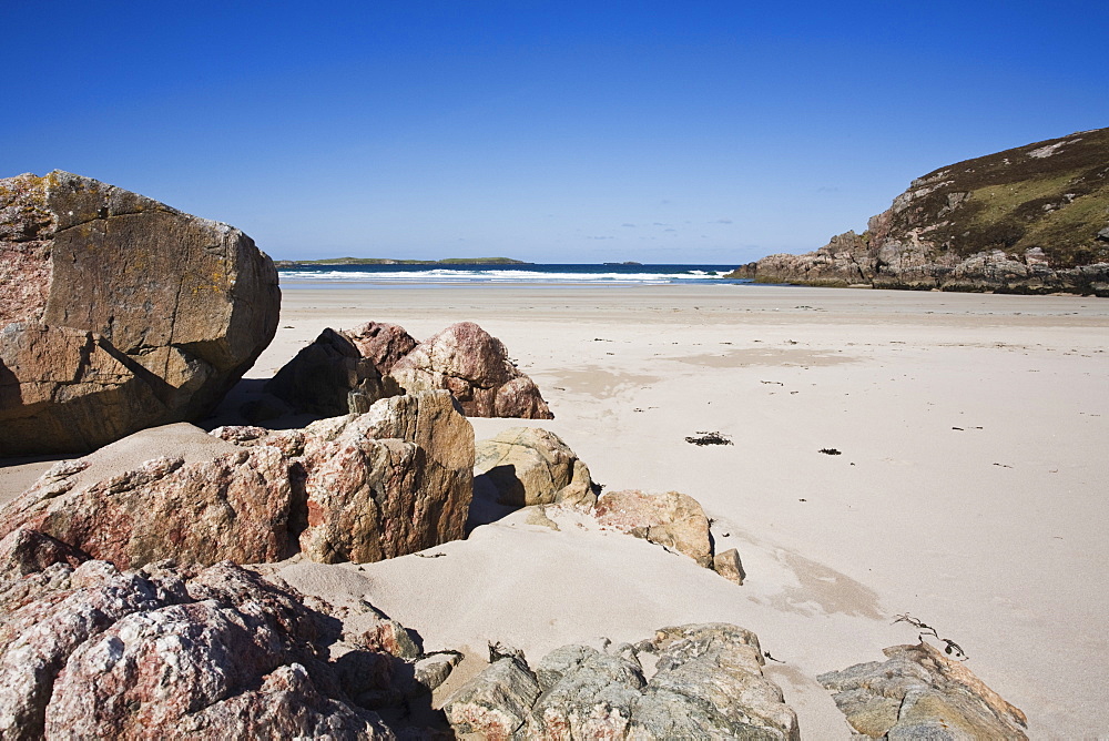
[[[457,732],[487,739],[798,739],[796,715],[763,663],[743,628],[663,628],[607,651],[563,646],[535,669],[520,656],[500,658],[444,710]]]

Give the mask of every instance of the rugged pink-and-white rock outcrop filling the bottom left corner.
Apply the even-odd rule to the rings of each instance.
[[[450,662],[419,679],[356,617],[232,564],[0,580],[0,737],[426,738],[378,712],[401,718]]]

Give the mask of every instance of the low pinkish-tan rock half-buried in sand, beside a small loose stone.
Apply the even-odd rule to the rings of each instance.
[[[596,511],[601,525],[685,554],[712,568],[709,518],[693,497],[679,491],[609,491],[598,498]]]

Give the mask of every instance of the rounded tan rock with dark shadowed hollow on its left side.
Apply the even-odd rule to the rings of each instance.
[[[476,446],[474,473],[502,505],[587,505],[597,501],[589,467],[554,433],[511,427]]]

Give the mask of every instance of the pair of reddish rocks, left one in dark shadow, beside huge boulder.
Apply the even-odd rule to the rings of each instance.
[[[471,417],[553,418],[503,343],[472,322],[452,324],[419,343],[395,324],[327,328],[265,387],[296,412],[328,416],[439,388],[449,390]]]

